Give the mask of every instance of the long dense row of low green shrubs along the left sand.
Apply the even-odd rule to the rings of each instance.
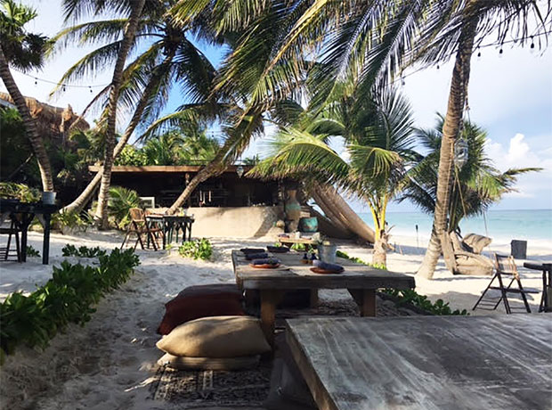
[[[9,295],[0,304],[0,360],[20,344],[45,348],[68,324],[84,325],[105,293],[117,289],[140,264],[134,250],[113,250],[100,256],[100,266],[53,267],[52,279],[25,296]]]

